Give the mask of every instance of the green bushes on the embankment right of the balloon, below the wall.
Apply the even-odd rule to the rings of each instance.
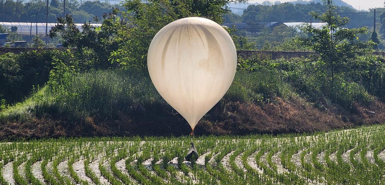
[[[275,96],[285,99],[300,96],[311,103],[315,103],[318,108],[324,109],[331,103],[339,104],[343,107],[350,107],[353,103],[370,103],[373,96],[384,97],[383,81],[384,67],[379,59],[373,55],[358,57],[350,71],[343,75],[338,75],[335,83],[331,87],[333,93],[330,93],[330,78],[322,67],[325,65],[318,57],[312,56],[305,58],[291,58],[270,60],[264,57],[251,59],[240,58],[238,61],[238,71],[253,71],[259,77],[258,83],[249,82],[252,87],[258,87],[258,93],[264,97],[259,102],[266,102],[267,99],[274,100]],[[246,78],[247,79],[247,78]],[[264,88],[263,84],[266,84]],[[243,86],[234,82],[230,88],[244,91]],[[246,88],[247,89],[247,88]],[[244,91],[246,94],[250,91]],[[231,93],[229,91],[228,93]],[[239,101],[244,93],[238,93],[237,98],[231,98],[232,101]],[[267,97],[267,99],[266,99]]]

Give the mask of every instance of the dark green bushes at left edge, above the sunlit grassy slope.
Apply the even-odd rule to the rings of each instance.
[[[19,102],[30,95],[33,86],[95,69],[95,63],[95,53],[86,48],[80,53],[65,49],[0,55],[0,99]]]

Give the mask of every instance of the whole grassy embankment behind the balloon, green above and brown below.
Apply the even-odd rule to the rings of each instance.
[[[382,78],[364,79],[367,83],[345,74],[330,93],[313,59],[262,60],[244,70],[247,62],[252,63],[240,62],[242,70],[198,124],[196,134],[304,133],[385,122],[384,104],[378,97],[385,81],[379,69],[372,73]],[[182,116],[157,93],[147,72],[122,69],[50,80],[22,103],[3,108],[0,123],[1,137],[185,135],[190,131]]]

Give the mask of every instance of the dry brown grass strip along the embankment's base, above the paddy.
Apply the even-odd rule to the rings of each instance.
[[[181,115],[167,105],[135,109],[117,118],[97,115],[79,120],[43,116],[32,121],[8,121],[0,127],[0,138],[47,138],[62,136],[179,136],[191,130]],[[302,99],[254,104],[221,102],[197,125],[196,135],[246,135],[251,133],[310,133],[385,123],[385,104],[353,104],[350,109],[330,106],[320,110]],[[369,113],[368,111],[375,112]]]

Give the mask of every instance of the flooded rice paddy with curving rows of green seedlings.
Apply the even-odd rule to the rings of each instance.
[[[0,183],[383,184],[384,131],[2,142]],[[199,158],[184,161],[191,141]]]

